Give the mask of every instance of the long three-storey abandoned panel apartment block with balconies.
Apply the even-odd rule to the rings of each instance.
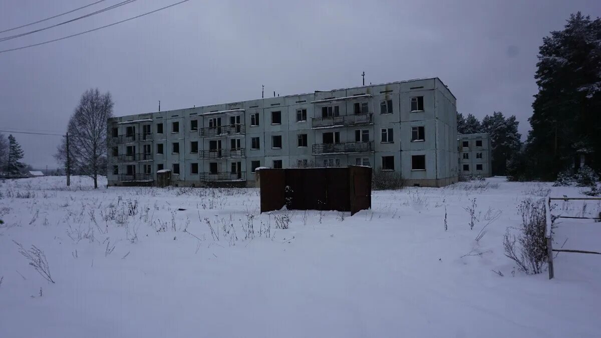
[[[108,120],[108,185],[254,186],[257,167],[368,165],[410,185],[457,182],[456,98],[438,78]]]

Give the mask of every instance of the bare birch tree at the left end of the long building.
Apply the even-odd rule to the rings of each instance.
[[[71,167],[94,179],[94,189],[98,188],[98,176],[106,174],[106,120],[112,117],[111,93],[100,93],[98,88],[82,94],[79,105],[69,118],[69,152]],[[58,146],[55,158],[66,161],[66,146]]]

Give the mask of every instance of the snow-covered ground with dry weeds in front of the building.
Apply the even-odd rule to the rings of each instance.
[[[517,271],[502,247],[520,201],[580,188],[495,177],[377,191],[350,217],[261,215],[257,189],[64,183],[0,183],[0,337],[601,336],[601,257],[561,253],[548,280]],[[601,211],[584,205],[554,212]],[[276,229],[285,215],[289,229]],[[600,238],[599,223],[562,221],[554,245],[601,251]],[[13,241],[43,250],[55,283]]]

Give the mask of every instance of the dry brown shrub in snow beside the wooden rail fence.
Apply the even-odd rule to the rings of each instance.
[[[522,227],[517,235],[507,228],[503,238],[505,256],[516,262],[526,274],[540,274],[547,261],[546,216],[544,200],[523,200],[519,206]]]

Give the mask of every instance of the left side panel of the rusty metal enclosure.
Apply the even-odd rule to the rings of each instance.
[[[259,179],[261,189],[261,212],[282,209],[285,203],[285,171],[281,169],[261,169]]]

